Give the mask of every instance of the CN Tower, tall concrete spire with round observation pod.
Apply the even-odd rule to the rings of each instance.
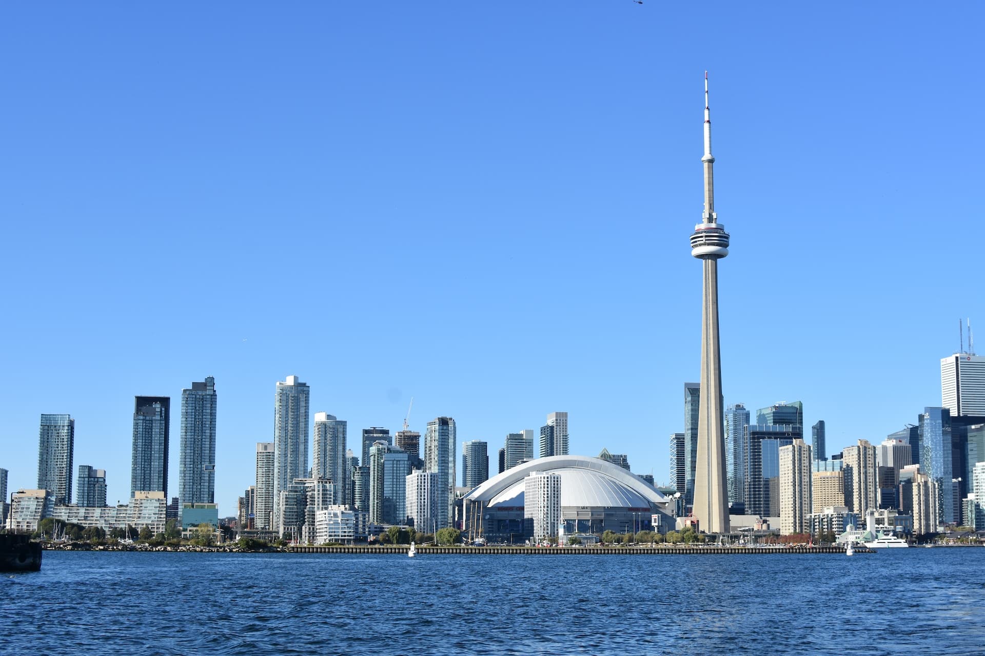
[[[697,458],[694,462],[693,515],[705,533],[729,532],[725,478],[725,419],[722,362],[718,347],[718,261],[729,254],[729,233],[715,214],[708,73],[704,74],[704,214],[690,236],[690,254],[701,261],[701,390],[698,399]]]

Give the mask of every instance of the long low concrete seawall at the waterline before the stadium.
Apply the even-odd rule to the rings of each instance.
[[[407,554],[406,545],[386,547],[288,547],[294,554]],[[417,547],[419,555],[462,554],[477,556],[681,556],[732,554],[763,556],[773,554],[841,554],[839,547]],[[875,553],[864,547],[856,547],[856,554]]]

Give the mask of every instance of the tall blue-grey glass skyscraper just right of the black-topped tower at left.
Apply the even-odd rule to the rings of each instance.
[[[181,390],[178,503],[216,503],[216,379]]]

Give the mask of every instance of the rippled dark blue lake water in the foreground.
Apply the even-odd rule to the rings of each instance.
[[[14,654],[985,653],[985,549],[46,552],[0,580]]]

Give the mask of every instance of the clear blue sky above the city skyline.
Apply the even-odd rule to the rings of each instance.
[[[217,501],[274,385],[459,443],[570,413],[668,480],[696,381],[710,71],[727,403],[829,450],[941,402],[981,322],[980,3],[77,3],[0,20],[0,467],[41,413],[130,485],[135,394],[215,376]],[[73,474],[74,475],[74,474]],[[74,494],[74,489],[73,489]]]

